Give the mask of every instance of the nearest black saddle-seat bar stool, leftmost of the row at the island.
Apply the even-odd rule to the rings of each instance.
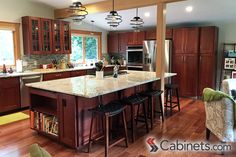
[[[91,142],[94,140],[92,138],[92,131],[93,131],[93,119],[95,117],[95,114],[105,117],[105,157],[108,157],[108,149],[113,147],[114,145],[120,143],[121,141],[125,141],[126,147],[128,147],[128,134],[127,134],[127,126],[126,126],[126,119],[125,119],[125,108],[120,101],[113,101],[108,103],[107,105],[99,105],[98,107],[95,107],[93,109],[90,109],[89,111],[92,112],[92,119],[91,119],[91,125],[90,125],[90,133],[89,133],[89,144],[88,144],[88,152],[90,152]],[[117,116],[119,114],[122,114],[122,122],[124,126],[124,137],[117,140],[113,144],[109,144],[109,118],[113,116]],[[102,118],[102,120],[103,120]],[[104,132],[104,130],[103,130]]]

